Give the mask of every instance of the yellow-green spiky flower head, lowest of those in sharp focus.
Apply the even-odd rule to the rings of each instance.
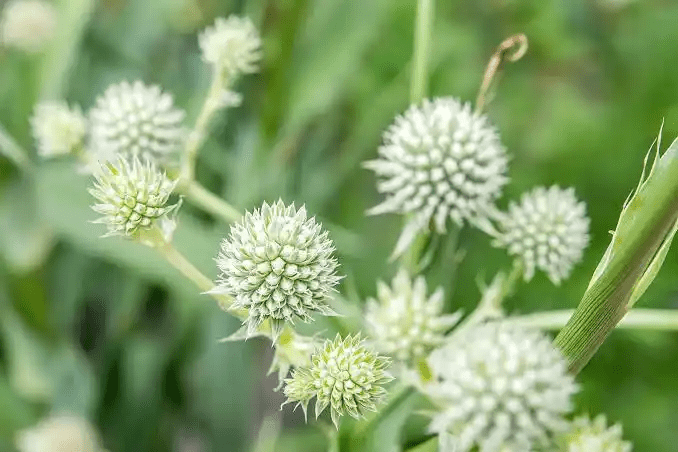
[[[389,364],[389,358],[365,347],[359,335],[342,339],[337,334],[313,354],[309,368],[296,368],[285,380],[285,403],[297,402],[306,413],[315,397],[316,417],[329,406],[338,428],[339,417],[346,413],[360,419],[376,410],[386,395],[382,385],[393,379],[385,370]]]

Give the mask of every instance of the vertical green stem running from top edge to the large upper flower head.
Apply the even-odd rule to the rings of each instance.
[[[428,60],[431,52],[434,0],[417,2],[417,18],[414,24],[414,53],[412,55],[412,79],[410,103],[421,102],[428,90]]]

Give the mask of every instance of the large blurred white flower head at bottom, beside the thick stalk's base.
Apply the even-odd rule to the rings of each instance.
[[[576,392],[567,364],[538,331],[502,323],[474,327],[435,350],[426,391],[440,407],[432,432],[457,452],[529,451],[564,430]]]

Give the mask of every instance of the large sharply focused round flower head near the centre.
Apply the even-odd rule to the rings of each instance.
[[[306,209],[282,201],[246,213],[221,244],[221,270],[215,291],[235,298],[248,310],[252,335],[264,320],[276,339],[285,321],[311,320],[311,313],[333,314],[326,298],[340,277],[327,232]]]

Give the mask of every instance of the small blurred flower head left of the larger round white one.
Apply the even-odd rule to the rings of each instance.
[[[87,121],[79,107],[70,109],[63,102],[43,102],[35,107],[31,127],[38,154],[53,157],[82,148]]]

